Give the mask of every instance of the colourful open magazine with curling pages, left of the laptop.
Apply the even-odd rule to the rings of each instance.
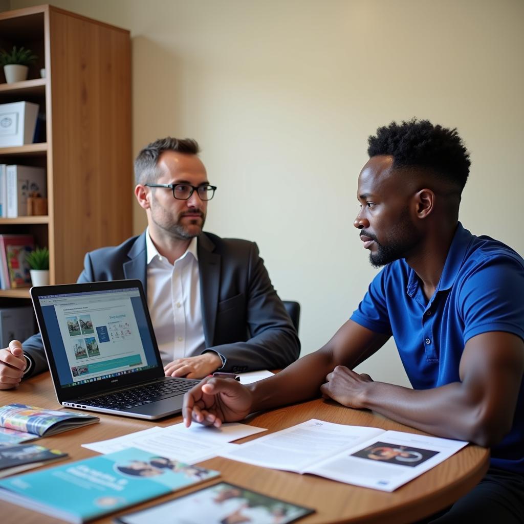
[[[0,427],[4,428],[0,430],[0,446],[39,439],[99,421],[98,417],[88,413],[9,404],[0,407]]]

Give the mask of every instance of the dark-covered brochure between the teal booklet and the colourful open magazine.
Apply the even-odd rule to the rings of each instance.
[[[37,444],[3,446],[0,447],[0,478],[66,459],[68,456],[67,453]]]

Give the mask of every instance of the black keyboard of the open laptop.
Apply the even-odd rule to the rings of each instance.
[[[126,389],[89,400],[90,406],[105,409],[129,409],[150,402],[182,395],[199,380],[172,379],[158,384],[148,384],[138,388]]]

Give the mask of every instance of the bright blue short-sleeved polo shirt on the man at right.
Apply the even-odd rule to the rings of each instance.
[[[489,331],[524,339],[524,260],[459,222],[438,286],[428,301],[406,260],[385,266],[351,319],[393,335],[414,389],[459,382],[466,342]],[[492,465],[524,473],[524,385],[511,431],[492,448]]]

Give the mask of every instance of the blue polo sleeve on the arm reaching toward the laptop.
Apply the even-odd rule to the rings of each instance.
[[[376,333],[391,334],[386,303],[387,269],[382,269],[372,280],[358,309],[351,315],[351,320]]]

